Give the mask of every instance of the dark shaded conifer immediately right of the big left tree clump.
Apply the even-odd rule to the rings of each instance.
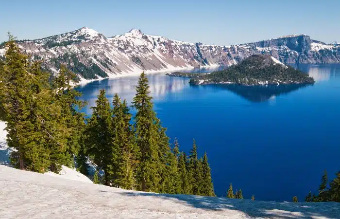
[[[113,156],[113,127],[112,112],[105,91],[101,90],[96,100],[96,106],[92,107],[92,116],[86,127],[86,143],[88,153],[94,157],[98,168],[104,170],[104,183],[110,185],[110,173],[112,173]]]

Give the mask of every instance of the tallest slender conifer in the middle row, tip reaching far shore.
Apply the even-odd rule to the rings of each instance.
[[[136,143],[140,151],[137,182],[142,191],[157,191],[159,189],[159,132],[157,119],[153,111],[148,79],[141,73],[133,107],[136,109],[135,133]]]

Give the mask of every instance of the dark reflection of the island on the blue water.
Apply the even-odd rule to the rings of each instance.
[[[242,86],[242,85],[214,85],[222,89],[227,89],[236,93],[251,102],[264,102],[274,100],[275,97],[281,94],[288,94],[289,92],[313,86],[312,84],[285,84],[285,85],[268,85],[268,86]]]

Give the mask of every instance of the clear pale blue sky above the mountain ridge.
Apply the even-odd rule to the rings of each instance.
[[[83,26],[106,37],[145,34],[232,45],[290,34],[340,41],[340,0],[1,0],[0,41]]]

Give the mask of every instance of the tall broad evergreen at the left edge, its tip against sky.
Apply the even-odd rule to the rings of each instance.
[[[19,169],[45,172],[50,165],[43,116],[49,109],[47,73],[40,63],[29,63],[9,34],[4,62],[0,64],[1,120],[7,123],[8,146],[17,151],[11,163]]]

